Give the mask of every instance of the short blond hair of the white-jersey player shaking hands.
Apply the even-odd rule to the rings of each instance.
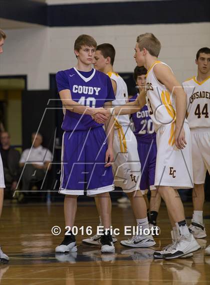
[[[136,42],[138,43],[140,51],[144,48],[151,56],[158,57],[161,44],[152,33],[145,33],[137,36]]]

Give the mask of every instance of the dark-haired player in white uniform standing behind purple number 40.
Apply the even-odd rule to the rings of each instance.
[[[115,94],[115,100],[112,106],[120,106],[128,100],[127,86],[123,79],[113,71],[113,63],[115,58],[115,49],[108,43],[97,46],[93,64],[96,70],[107,74],[112,83]],[[114,139],[113,153],[114,161],[112,170],[114,173],[114,185],[121,187],[123,192],[128,196],[131,208],[136,219],[136,234],[128,240],[121,240],[120,244],[130,247],[150,247],[155,244],[152,235],[141,233],[144,229],[148,229],[148,219],[146,216],[146,204],[142,199],[142,194],[139,189],[140,184],[140,163],[137,151],[137,141],[133,132],[130,129],[129,116],[114,117]],[[97,199],[95,199],[98,213]],[[111,203],[111,201],[110,201]],[[112,236],[113,241],[116,241]],[[87,244],[99,244],[99,236],[83,239]]]

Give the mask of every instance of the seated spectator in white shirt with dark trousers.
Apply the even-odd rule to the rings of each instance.
[[[31,182],[43,180],[46,169],[52,160],[51,152],[41,145],[41,134],[32,133],[31,142],[32,147],[25,149],[19,160],[20,167],[24,166],[21,176],[23,191],[30,190]]]

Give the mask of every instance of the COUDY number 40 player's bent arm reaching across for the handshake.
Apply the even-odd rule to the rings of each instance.
[[[90,116],[94,113],[95,108],[86,107],[86,106],[83,106],[83,105],[73,101],[71,99],[71,94],[70,94],[69,89],[61,90],[59,92],[59,96],[60,96],[60,99],[62,101],[63,107],[65,109],[71,111],[71,112],[74,112],[77,114],[90,115]],[[97,108],[97,109],[103,110],[103,108]],[[106,119],[106,117],[103,114],[100,115],[100,118],[104,119],[104,120]]]

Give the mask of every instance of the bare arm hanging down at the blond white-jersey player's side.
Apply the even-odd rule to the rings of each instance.
[[[178,149],[183,149],[186,145],[183,122],[186,115],[186,94],[176,80],[171,70],[162,64],[157,64],[153,68],[154,74],[160,83],[164,84],[167,90],[175,95],[176,121],[175,121],[175,145]]]

